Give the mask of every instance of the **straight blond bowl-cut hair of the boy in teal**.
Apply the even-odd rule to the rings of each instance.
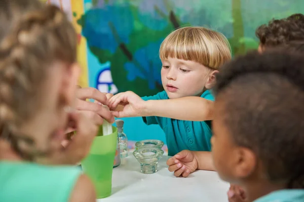
[[[168,57],[217,70],[231,60],[231,47],[222,33],[204,27],[182,27],[171,32],[161,44],[161,60]]]

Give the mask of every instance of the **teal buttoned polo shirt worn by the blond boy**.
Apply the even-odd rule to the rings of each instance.
[[[201,97],[214,101],[214,96],[210,90],[206,90]],[[153,96],[142,97],[142,99],[158,100],[169,99],[169,97],[166,91],[162,91]],[[143,117],[142,119],[147,125],[158,124],[163,129],[166,134],[169,156],[174,156],[183,149],[193,151],[211,150],[211,121],[183,121],[155,116]]]

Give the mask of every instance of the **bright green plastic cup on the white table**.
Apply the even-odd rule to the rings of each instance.
[[[112,171],[116,153],[117,128],[110,135],[102,135],[102,126],[95,137],[89,155],[82,161],[82,169],[95,185],[97,198],[111,195]]]

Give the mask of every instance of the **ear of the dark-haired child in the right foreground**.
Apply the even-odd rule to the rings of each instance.
[[[236,166],[234,175],[239,179],[252,175],[257,167],[257,159],[253,151],[246,147],[240,147],[235,151]]]

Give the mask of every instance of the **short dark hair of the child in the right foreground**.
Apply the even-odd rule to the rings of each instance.
[[[234,141],[253,150],[268,179],[304,188],[304,57],[241,56],[223,66],[214,91]]]

